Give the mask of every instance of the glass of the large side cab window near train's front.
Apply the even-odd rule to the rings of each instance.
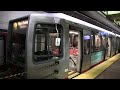
[[[37,25],[40,25],[38,28]],[[62,26],[54,24],[35,25],[35,61],[46,61],[62,57]],[[58,40],[58,44],[56,44]]]

